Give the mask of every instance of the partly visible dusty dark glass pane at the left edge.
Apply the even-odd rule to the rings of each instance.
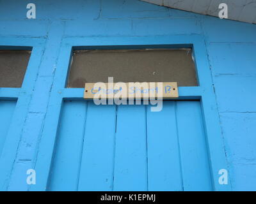
[[[28,50],[0,50],[0,87],[21,87],[30,55]]]

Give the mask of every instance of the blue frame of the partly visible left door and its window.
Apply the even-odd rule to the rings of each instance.
[[[0,101],[16,101],[12,120],[8,128],[6,140],[1,152],[0,183],[3,191],[8,186],[8,178],[12,173],[13,163],[16,159],[17,149],[19,147],[22,128],[29,110],[29,101],[35,85],[37,73],[40,66],[40,59],[44,50],[45,39],[23,38],[20,40],[15,37],[1,37],[0,48],[2,50],[32,50],[26,74],[20,88],[0,87]]]

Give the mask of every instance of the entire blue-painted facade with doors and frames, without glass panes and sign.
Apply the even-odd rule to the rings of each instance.
[[[0,48],[32,50],[22,87],[0,87],[1,191],[256,190],[256,25],[136,0],[33,3],[36,19],[0,3]],[[192,47],[200,85],[158,113],[87,104],[65,88],[70,55],[106,46]]]

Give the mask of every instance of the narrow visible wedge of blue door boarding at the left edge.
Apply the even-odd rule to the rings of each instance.
[[[10,127],[16,101],[0,101],[0,156]]]

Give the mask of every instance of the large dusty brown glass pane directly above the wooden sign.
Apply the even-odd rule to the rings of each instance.
[[[67,87],[84,83],[178,82],[196,86],[191,49],[77,50],[74,51]]]

